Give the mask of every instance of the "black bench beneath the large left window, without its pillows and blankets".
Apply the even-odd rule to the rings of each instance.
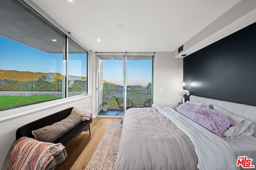
[[[54,113],[52,115],[48,115],[46,117],[43,117],[41,119],[38,119],[36,121],[30,122],[20,128],[17,129],[16,131],[16,140],[20,139],[20,137],[30,137],[34,138],[32,135],[32,131],[36,129],[40,129],[42,127],[52,125],[55,122],[61,121],[62,119],[65,119],[70,115],[73,107],[70,107],[68,109],[64,109],[62,111],[59,111],[57,113]],[[64,136],[60,137],[53,143],[62,143],[62,145],[67,146],[70,142],[72,142],[82,131],[85,131],[86,128],[89,128],[89,133],[91,135],[90,131],[90,123],[92,123],[92,117],[90,120],[87,121],[82,121],[79,123],[76,127],[71,129],[68,133],[66,133]]]

